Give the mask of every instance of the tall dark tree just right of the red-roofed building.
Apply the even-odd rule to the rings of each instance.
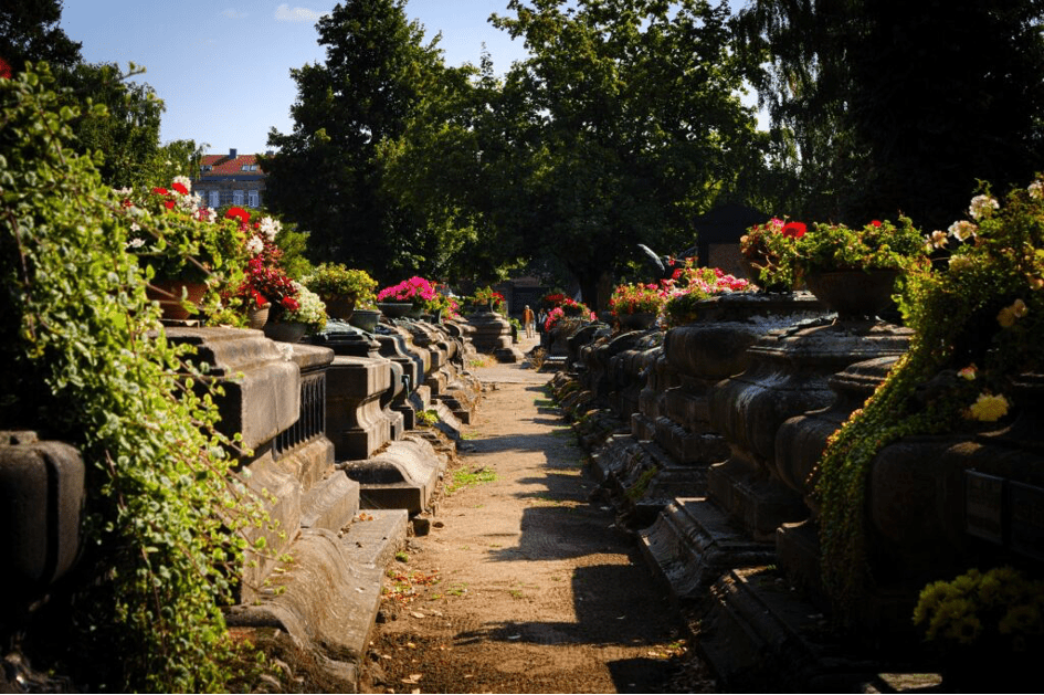
[[[272,129],[262,158],[274,209],[310,232],[313,259],[382,281],[423,264],[425,220],[389,196],[379,150],[399,138],[444,73],[437,38],[407,19],[404,0],[346,0],[316,24],[326,62],[291,74],[292,133]]]

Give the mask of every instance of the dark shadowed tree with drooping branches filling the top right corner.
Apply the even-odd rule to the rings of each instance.
[[[787,212],[942,227],[1042,167],[1041,0],[752,0],[738,30],[799,181]]]

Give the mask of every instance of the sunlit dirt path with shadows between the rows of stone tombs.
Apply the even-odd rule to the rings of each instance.
[[[679,625],[634,539],[589,502],[597,485],[544,393],[550,375],[473,371],[484,383],[464,434],[474,449],[447,471],[431,534],[386,577],[365,687],[678,692]]]

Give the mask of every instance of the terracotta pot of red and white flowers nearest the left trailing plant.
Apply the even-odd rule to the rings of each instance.
[[[213,210],[201,208],[186,177],[177,177],[169,189],[119,192],[119,211],[130,227],[128,248],[147,268],[149,296],[160,303],[165,317],[189,318],[204,304],[217,309],[220,288],[238,284],[245,262],[242,221],[219,220]]]

